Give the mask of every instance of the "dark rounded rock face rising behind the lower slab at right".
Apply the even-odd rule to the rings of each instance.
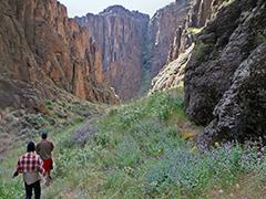
[[[214,118],[214,107],[231,87],[235,71],[259,44],[266,12],[255,8],[255,1],[236,0],[198,35],[185,74],[186,111],[196,124]]]

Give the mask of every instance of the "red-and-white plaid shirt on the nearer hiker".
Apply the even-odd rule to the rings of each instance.
[[[44,174],[40,156],[38,156],[35,153],[27,153],[25,155],[21,156],[18,160],[17,171],[18,172],[39,171],[41,174]]]

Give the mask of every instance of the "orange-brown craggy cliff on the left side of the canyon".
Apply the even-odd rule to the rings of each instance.
[[[42,97],[54,96],[57,86],[82,100],[115,101],[112,91],[104,93],[99,48],[89,40],[85,29],[68,18],[64,6],[57,0],[10,0],[0,4],[1,76],[6,82],[1,83],[2,98],[24,98],[22,91],[16,90],[19,84],[12,83],[19,81]]]

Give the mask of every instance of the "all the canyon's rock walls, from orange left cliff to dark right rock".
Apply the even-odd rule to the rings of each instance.
[[[198,143],[264,135],[262,0],[176,0],[152,19],[121,6],[70,19],[57,0],[0,7],[1,109],[45,113],[43,102],[69,94],[117,104],[147,73],[150,93],[184,87],[187,115],[205,127]]]

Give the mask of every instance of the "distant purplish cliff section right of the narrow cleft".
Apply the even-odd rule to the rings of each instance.
[[[146,43],[145,67],[155,76],[167,61],[176,30],[186,23],[190,0],[177,0],[160,9],[151,19]]]

